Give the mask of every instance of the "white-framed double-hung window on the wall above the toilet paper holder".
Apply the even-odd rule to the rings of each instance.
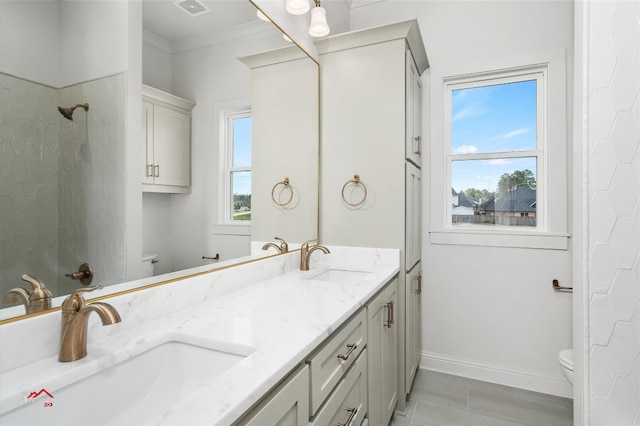
[[[447,82],[450,226],[544,228],[545,81],[533,68]]]

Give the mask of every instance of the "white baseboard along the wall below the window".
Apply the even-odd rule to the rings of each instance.
[[[422,352],[420,368],[549,395],[573,398],[573,387],[566,380],[536,376],[523,371],[483,364],[463,358]]]

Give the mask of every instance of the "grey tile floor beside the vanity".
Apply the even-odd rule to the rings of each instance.
[[[573,401],[433,371],[417,373],[390,426],[571,426]]]

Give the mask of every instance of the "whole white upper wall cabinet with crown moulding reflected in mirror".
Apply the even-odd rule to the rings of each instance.
[[[142,86],[145,192],[191,192],[191,110],[186,99]]]

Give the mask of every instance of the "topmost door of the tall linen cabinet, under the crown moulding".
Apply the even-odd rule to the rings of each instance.
[[[413,62],[411,51],[406,52],[406,128],[405,150],[407,160],[422,165],[422,83]]]

